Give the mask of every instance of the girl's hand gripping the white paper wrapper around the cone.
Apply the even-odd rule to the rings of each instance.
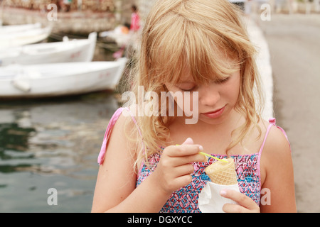
[[[238,203],[223,205],[223,211],[226,213],[260,213],[260,207],[255,201],[241,192],[223,189],[221,190],[220,195]]]

